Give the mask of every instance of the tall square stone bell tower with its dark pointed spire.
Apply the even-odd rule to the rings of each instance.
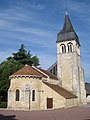
[[[84,70],[81,66],[80,43],[69,15],[65,14],[62,30],[57,34],[57,77],[62,87],[86,100]]]

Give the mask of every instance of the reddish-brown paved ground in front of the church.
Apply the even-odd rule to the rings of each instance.
[[[45,111],[0,109],[0,120],[90,120],[90,105]]]

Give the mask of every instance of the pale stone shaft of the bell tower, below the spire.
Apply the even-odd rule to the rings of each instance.
[[[72,52],[68,52],[69,42],[72,44]],[[66,46],[65,53],[62,53],[62,45]],[[84,104],[86,92],[80,59],[80,46],[75,40],[57,43],[57,72],[60,84],[78,97],[78,104]]]

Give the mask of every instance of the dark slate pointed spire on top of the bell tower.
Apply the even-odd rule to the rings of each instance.
[[[56,42],[58,43],[69,40],[76,40],[76,42],[80,45],[79,38],[73,28],[68,12],[66,11],[64,25],[62,30],[57,34]]]

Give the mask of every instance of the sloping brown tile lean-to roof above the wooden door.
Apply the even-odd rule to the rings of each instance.
[[[57,93],[59,93],[66,99],[77,98],[77,96],[73,95],[71,92],[67,91],[66,89],[64,89],[63,87],[59,85],[50,84],[48,82],[43,82],[43,83],[49,86],[50,88],[52,88],[54,91],[56,91]]]

